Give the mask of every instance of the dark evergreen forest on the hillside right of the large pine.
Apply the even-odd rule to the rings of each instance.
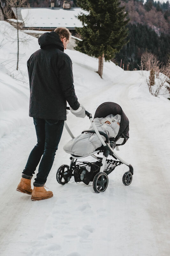
[[[128,24],[129,42],[116,54],[114,62],[125,70],[139,69],[141,56],[144,52],[151,52],[162,64],[166,65],[170,58],[170,34],[158,35],[152,28],[142,24]]]

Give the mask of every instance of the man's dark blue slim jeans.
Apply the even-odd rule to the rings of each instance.
[[[33,117],[33,122],[37,134],[37,145],[31,151],[22,173],[33,176],[41,160],[35,182],[44,184],[54,162],[55,152],[63,132],[64,120],[45,120]]]

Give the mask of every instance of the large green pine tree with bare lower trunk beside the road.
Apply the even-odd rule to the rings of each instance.
[[[83,40],[77,42],[75,49],[99,59],[98,74],[102,77],[104,58],[111,60],[127,43],[127,13],[119,6],[119,0],[77,0],[77,4],[87,14],[78,15],[83,28],[76,30]]]

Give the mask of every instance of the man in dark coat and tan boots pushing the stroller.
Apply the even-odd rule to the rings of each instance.
[[[44,185],[63,132],[66,101],[73,114],[85,117],[85,108],[79,104],[74,91],[72,62],[64,53],[70,35],[67,28],[56,28],[44,33],[38,39],[41,49],[34,52],[27,61],[30,82],[29,116],[33,117],[37,144],[28,157],[17,191],[32,194],[33,201],[53,196],[52,191],[46,191]],[[39,162],[32,190],[31,179]]]

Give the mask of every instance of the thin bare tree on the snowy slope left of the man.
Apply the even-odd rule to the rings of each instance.
[[[18,70],[18,63],[19,63],[19,42],[26,42],[28,39],[26,39],[26,36],[24,36],[22,39],[19,38],[19,30],[21,29],[22,25],[20,20],[18,19],[18,8],[20,7],[29,7],[27,0],[7,0],[6,6],[4,8],[4,13],[7,19],[10,22],[11,19],[11,13],[12,8],[15,8],[16,12],[16,29],[17,29],[17,70]],[[11,37],[12,38],[12,37]],[[12,38],[13,40],[13,38]]]

